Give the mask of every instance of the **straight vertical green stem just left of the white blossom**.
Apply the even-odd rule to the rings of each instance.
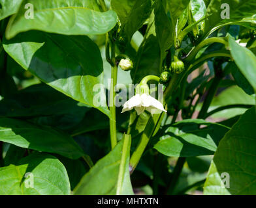
[[[111,85],[110,85],[110,140],[111,140],[111,148],[114,149],[116,144],[118,143],[116,137],[116,84],[118,79],[118,66],[116,66],[116,50],[115,50],[114,42],[111,42],[111,60],[112,60],[112,68],[111,68]]]

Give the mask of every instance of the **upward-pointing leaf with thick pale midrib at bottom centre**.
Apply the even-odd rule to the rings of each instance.
[[[130,146],[131,136],[124,135],[121,142],[84,175],[74,194],[133,194],[129,174]]]

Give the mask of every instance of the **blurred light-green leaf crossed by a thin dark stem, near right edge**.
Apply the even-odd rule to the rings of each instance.
[[[223,107],[227,105],[255,105],[255,98],[253,96],[249,96],[238,86],[231,86],[221,92],[219,95],[214,97],[208,112],[211,110],[217,109],[218,107]],[[232,108],[222,110],[213,114],[211,117],[213,118],[231,118],[233,116],[237,116],[246,112],[246,109],[241,108]]]

